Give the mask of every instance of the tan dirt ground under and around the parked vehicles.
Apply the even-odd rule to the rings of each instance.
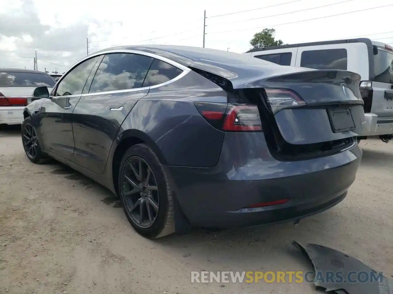
[[[311,270],[291,242],[317,243],[393,276],[393,142],[366,140],[345,200],[269,227],[150,241],[113,194],[60,163],[34,165],[19,128],[0,131],[0,293],[316,293],[310,284],[192,284],[192,270]]]

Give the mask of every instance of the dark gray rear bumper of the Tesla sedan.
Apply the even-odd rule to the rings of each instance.
[[[358,145],[324,158],[279,162],[263,146],[261,135],[226,134],[213,168],[167,167],[191,225],[230,228],[291,221],[329,209],[345,198],[362,156]],[[245,208],[282,199],[290,200]]]

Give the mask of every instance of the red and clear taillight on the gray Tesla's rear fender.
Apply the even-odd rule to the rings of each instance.
[[[256,105],[194,102],[203,118],[224,132],[260,132],[261,118]]]

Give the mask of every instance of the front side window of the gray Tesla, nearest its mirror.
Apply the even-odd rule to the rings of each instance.
[[[55,96],[82,94],[86,80],[99,56],[85,60],[70,71],[59,83]]]

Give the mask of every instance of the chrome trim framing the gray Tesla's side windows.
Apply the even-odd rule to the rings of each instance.
[[[184,65],[182,65],[182,64],[180,64],[178,62],[175,62],[173,60],[170,60],[170,59],[168,59],[166,57],[162,57],[160,55],[157,55],[157,54],[144,52],[144,51],[139,51],[139,50],[130,50],[130,49],[108,49],[108,50],[105,50],[105,51],[99,51],[99,52],[90,54],[89,56],[86,56],[83,59],[79,60],[77,63],[73,64],[70,67],[70,69],[68,69],[68,71],[66,71],[61,76],[61,78],[57,81],[56,86],[59,83],[61,83],[63,78],[65,78],[66,75],[68,73],[70,73],[70,71],[72,71],[75,67],[77,67],[82,62],[85,62],[86,60],[88,60],[90,58],[94,58],[94,57],[97,57],[97,56],[100,56],[100,55],[110,54],[110,53],[130,53],[130,54],[144,55],[144,56],[147,56],[147,57],[151,57],[151,58],[155,58],[155,59],[161,60],[163,62],[166,62],[167,64],[173,65],[174,67],[177,67],[178,69],[182,70],[183,72],[181,74],[179,74],[178,76],[176,76],[175,78],[173,78],[172,80],[160,83],[158,85],[150,86],[150,87],[140,87],[140,88],[134,88],[134,89],[123,89],[123,90],[113,90],[113,91],[105,91],[105,92],[76,94],[76,95],[68,95],[68,96],[53,96],[53,97],[55,97],[55,98],[59,98],[59,97],[85,97],[85,96],[93,96],[93,95],[105,95],[105,94],[114,94],[114,93],[127,93],[127,92],[135,92],[135,91],[144,91],[144,90],[154,89],[154,88],[158,88],[158,87],[162,87],[162,86],[168,85],[168,84],[170,84],[172,82],[175,82],[175,81],[179,80],[180,78],[184,77],[187,73],[189,73],[191,71],[191,69],[189,69],[188,67],[186,67],[186,66],[184,66]],[[54,88],[55,87],[53,87],[53,89]],[[57,87],[56,87],[56,89],[57,89]]]

